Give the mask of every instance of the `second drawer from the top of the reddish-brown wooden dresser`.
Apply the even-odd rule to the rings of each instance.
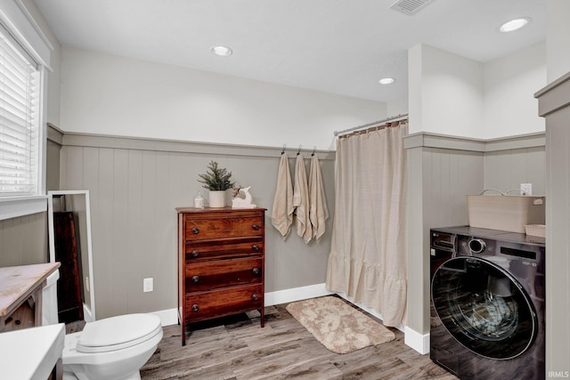
[[[232,257],[263,255],[264,239],[254,236],[215,241],[199,240],[186,242],[184,250],[184,260],[187,264]]]

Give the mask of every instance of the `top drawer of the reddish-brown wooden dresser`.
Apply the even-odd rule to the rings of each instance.
[[[186,241],[263,236],[265,233],[264,220],[259,213],[219,215],[199,219],[191,214],[185,214],[184,218]]]

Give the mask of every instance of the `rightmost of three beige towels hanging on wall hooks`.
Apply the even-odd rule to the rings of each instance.
[[[313,156],[309,172],[309,220],[313,228],[313,238],[317,241],[321,240],[324,234],[327,219],[329,219],[329,208],[322,186],[321,164],[319,158]]]

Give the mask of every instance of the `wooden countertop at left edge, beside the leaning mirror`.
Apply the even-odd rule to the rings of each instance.
[[[42,263],[0,268],[0,317],[10,315],[60,266]]]

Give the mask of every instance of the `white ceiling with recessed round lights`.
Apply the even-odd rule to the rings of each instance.
[[[395,0],[34,1],[62,45],[373,101],[407,94],[416,44],[486,62],[546,37],[545,0],[436,0],[412,16]],[[520,16],[532,22],[497,31]]]

